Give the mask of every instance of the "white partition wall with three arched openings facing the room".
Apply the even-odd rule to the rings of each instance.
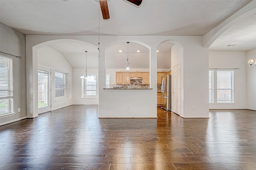
[[[35,88],[36,68],[34,67],[33,48],[44,43],[60,41],[61,39],[71,39],[84,41],[97,46],[97,36],[27,36],[27,88]],[[193,75],[191,83],[184,85],[184,103],[182,111],[184,117],[208,117],[208,48],[202,47],[202,36],[100,36],[99,53],[99,117],[156,117],[157,115],[157,46],[165,41],[174,40],[184,47],[184,79],[189,79]],[[152,90],[104,90],[105,87],[105,51],[108,47],[120,42],[140,43],[150,49],[150,87]],[[37,62],[36,62],[37,63]],[[202,65],[198,67],[198,65]],[[200,76],[196,76],[200,73]],[[195,77],[195,78],[194,78]],[[33,82],[31,86],[30,82]],[[37,81],[37,80],[36,80]],[[198,82],[201,87],[198,87]],[[32,98],[36,98],[36,95]],[[139,96],[139,97],[138,97]],[[195,101],[194,97],[198,99]],[[124,98],[125,97],[125,98]],[[127,100],[128,99],[128,100]],[[197,109],[192,111],[191,106]],[[126,107],[129,110],[126,111]],[[32,113],[32,109],[30,109]]]

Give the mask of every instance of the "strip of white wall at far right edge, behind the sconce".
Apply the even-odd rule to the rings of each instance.
[[[256,48],[246,51],[246,61],[244,62],[248,63],[249,59],[256,60]],[[252,69],[246,64],[246,84],[247,109],[256,111],[256,66]]]

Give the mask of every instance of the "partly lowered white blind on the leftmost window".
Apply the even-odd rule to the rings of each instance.
[[[0,99],[13,97],[12,59],[0,56]]]

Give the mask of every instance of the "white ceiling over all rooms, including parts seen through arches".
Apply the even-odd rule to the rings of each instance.
[[[143,0],[137,7],[126,0],[109,0],[110,19],[103,20],[97,0],[0,0],[0,21],[27,35],[97,35],[100,22],[100,35],[203,36],[250,2]],[[247,51],[256,48],[255,33],[256,14],[253,14],[224,32],[209,50]],[[236,46],[227,47],[229,44]],[[148,50],[136,44],[130,46],[129,53],[140,48],[140,54],[136,55]],[[169,46],[166,44],[167,49],[164,49],[163,45],[160,53],[170,53]],[[90,58],[93,62],[98,61],[97,49],[86,44],[67,42],[50,47],[60,51],[74,68],[84,68],[80,61],[85,49],[89,61]],[[127,44],[124,42],[108,49],[109,52],[116,51],[111,57],[121,55],[118,52],[121,48],[127,51]],[[92,64],[91,67],[98,65]]]

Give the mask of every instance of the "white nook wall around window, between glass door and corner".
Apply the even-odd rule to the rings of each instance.
[[[42,47],[38,49],[38,65],[51,68],[52,111],[72,105],[72,67],[63,55],[51,47]],[[66,96],[62,98],[55,98],[55,71],[66,73]]]

